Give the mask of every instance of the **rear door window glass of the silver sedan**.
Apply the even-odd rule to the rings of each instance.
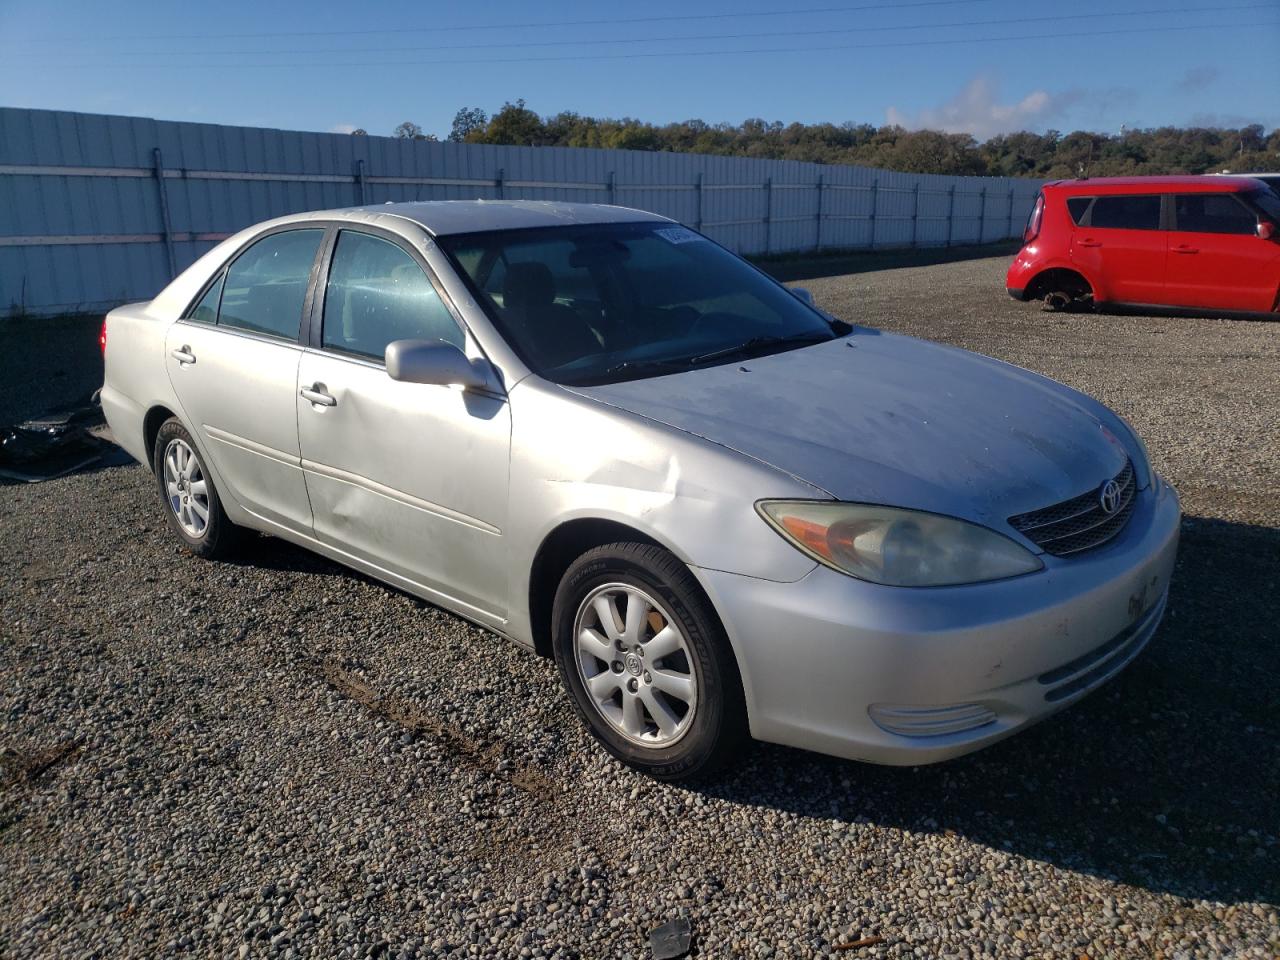
[[[241,253],[227,269],[218,324],[296,340],[323,238],[316,229],[273,233]]]

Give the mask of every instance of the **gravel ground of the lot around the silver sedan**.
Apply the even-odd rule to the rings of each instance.
[[[0,955],[645,957],[680,915],[695,956],[1280,955],[1280,325],[883,265],[805,285],[1089,390],[1183,492],[1125,673],[942,765],[666,786],[442,611],[269,538],[184,554],[142,467],[0,488]]]

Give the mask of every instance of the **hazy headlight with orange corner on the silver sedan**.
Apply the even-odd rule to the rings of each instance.
[[[888,586],[978,584],[1044,566],[1007,536],[936,513],[833,500],[760,500],[756,509],[819,563]]]

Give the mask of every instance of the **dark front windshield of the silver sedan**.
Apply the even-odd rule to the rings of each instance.
[[[440,244],[530,369],[561,384],[657,376],[846,332],[678,224],[495,230]]]

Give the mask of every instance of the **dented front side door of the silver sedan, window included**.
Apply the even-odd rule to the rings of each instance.
[[[398,383],[398,339],[480,356],[425,265],[390,236],[340,230],[297,419],[315,535],[483,620],[507,614],[504,397]]]

